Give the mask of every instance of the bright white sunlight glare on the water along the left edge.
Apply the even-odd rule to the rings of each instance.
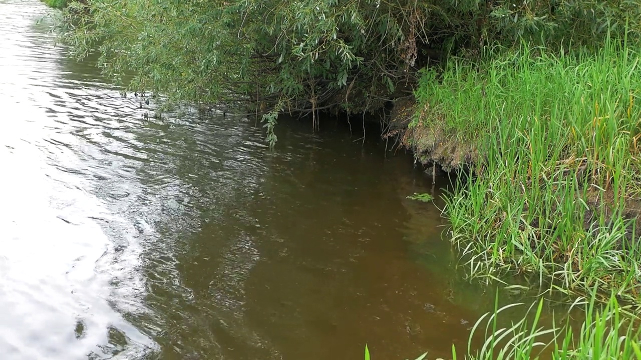
[[[43,10],[0,1],[0,357],[112,357],[126,345],[117,332],[140,345],[129,352],[153,348],[110,300],[113,268],[133,274],[137,264],[113,264],[114,244],[94,219],[117,215],[77,175],[84,169],[71,148],[83,143],[52,111],[69,95]]]

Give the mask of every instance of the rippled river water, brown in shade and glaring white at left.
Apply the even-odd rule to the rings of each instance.
[[[143,119],[152,108],[54,47],[46,13],[0,0],[3,360],[467,344],[494,290],[460,280],[440,211],[406,199],[438,196],[409,154],[333,122],[283,120],[270,151],[251,120]]]

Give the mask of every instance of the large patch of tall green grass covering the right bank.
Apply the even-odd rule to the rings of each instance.
[[[641,195],[637,48],[493,53],[424,71],[411,124],[478,151],[445,206],[470,275],[529,272],[641,302],[641,239],[624,216]]]

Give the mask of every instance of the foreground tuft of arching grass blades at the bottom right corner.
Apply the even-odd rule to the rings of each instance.
[[[503,327],[499,323],[501,313],[512,304],[486,313],[472,327],[468,347],[458,357],[453,347],[453,360],[641,360],[641,338],[637,316],[631,308],[622,307],[616,298],[610,297],[603,307],[595,304],[596,297],[589,301],[577,300],[572,306],[582,306],[585,320],[576,328],[567,321],[545,328],[539,323],[544,300],[534,303],[526,315],[517,322]],[[472,348],[475,336],[482,336],[483,345]]]

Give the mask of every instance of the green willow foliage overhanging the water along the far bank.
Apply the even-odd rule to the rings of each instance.
[[[114,79],[132,74],[132,90],[354,112],[394,97],[433,54],[636,36],[640,1],[91,0],[67,8],[63,34]]]

